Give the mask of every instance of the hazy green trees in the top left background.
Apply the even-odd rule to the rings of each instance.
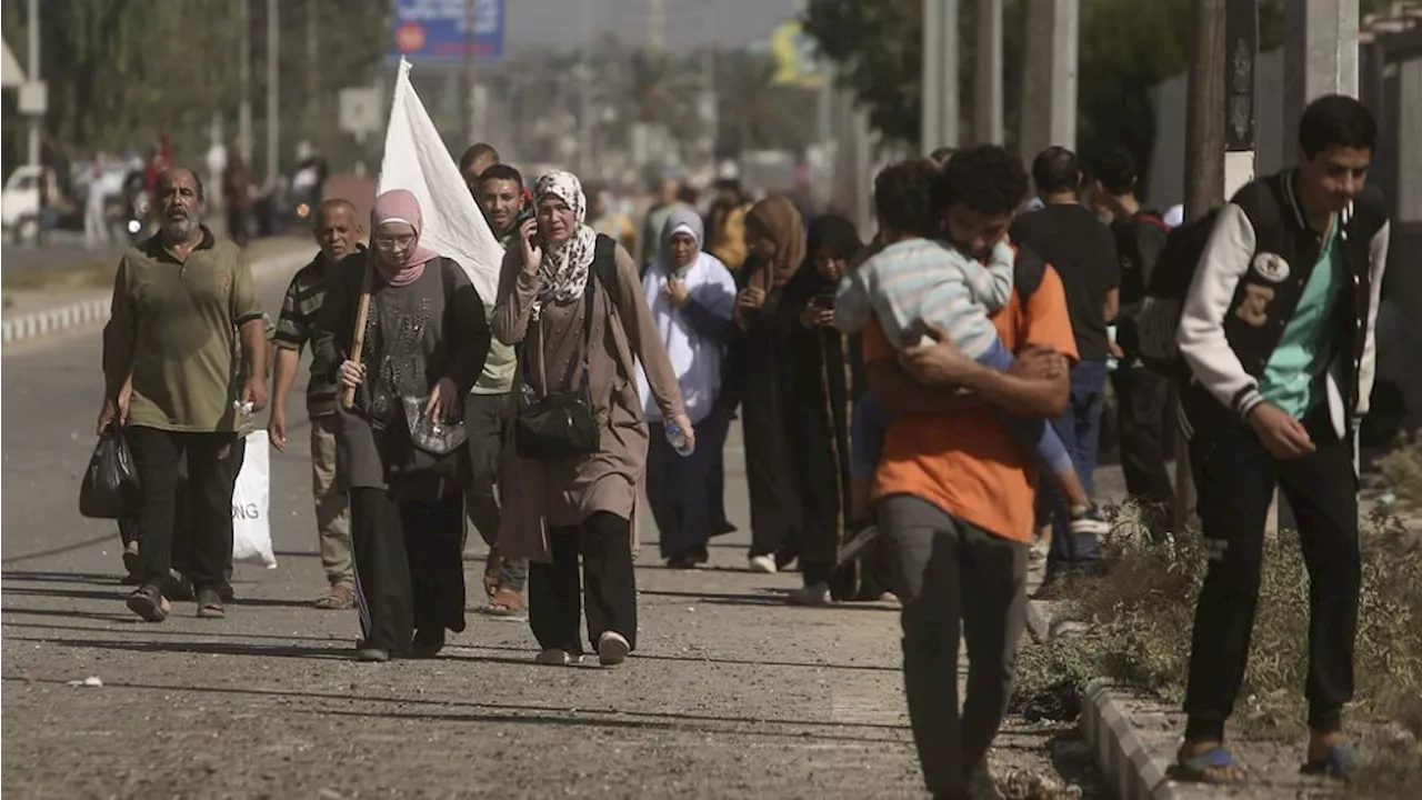
[[[260,131],[266,3],[240,1],[250,6],[253,115]],[[282,1],[282,107],[289,110],[292,134],[284,141],[334,140],[336,93],[358,85],[378,64],[387,11],[381,3]],[[144,149],[168,132],[179,159],[201,159],[213,115],[229,121],[229,138],[236,132],[239,19],[235,0],[43,3],[40,70],[50,95],[46,135],[73,158],[88,158],[100,149]],[[317,64],[306,61],[309,19],[319,20],[317,31],[326,41]],[[0,31],[21,63],[27,61],[27,26],[24,3],[0,3]],[[0,155],[18,158],[27,122],[13,112],[13,104],[14,93],[0,93]],[[283,151],[290,158],[290,148]]]

